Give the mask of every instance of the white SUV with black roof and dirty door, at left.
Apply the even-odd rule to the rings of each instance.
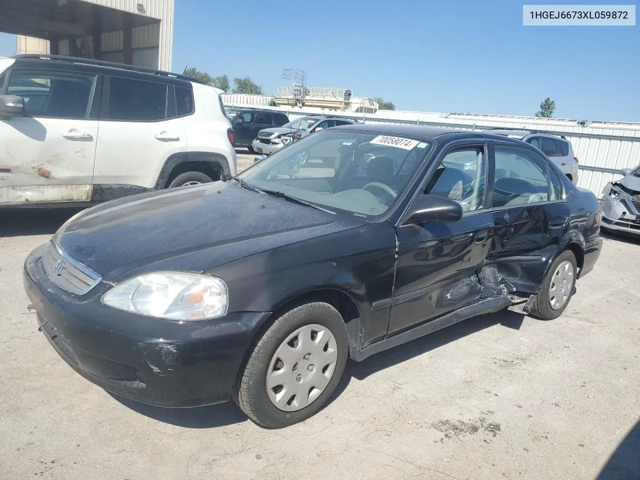
[[[83,205],[235,175],[220,93],[120,63],[0,58],[0,208]]]

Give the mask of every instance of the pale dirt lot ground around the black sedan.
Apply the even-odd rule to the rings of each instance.
[[[71,213],[0,214],[0,479],[640,478],[638,241],[607,237],[556,321],[477,317],[349,362],[329,406],[269,431],[230,403],[118,399],[58,357],[21,269]]]

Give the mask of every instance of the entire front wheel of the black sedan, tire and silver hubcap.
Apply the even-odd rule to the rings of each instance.
[[[238,374],[236,403],[255,423],[283,428],[323,408],[348,356],[347,329],[328,303],[298,305],[258,340]]]

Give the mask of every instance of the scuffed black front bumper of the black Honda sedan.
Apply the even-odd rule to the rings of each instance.
[[[42,268],[42,250],[24,265],[24,287],[40,330],[58,354],[96,385],[157,406],[227,401],[244,354],[268,312],[236,312],[178,323],[105,307],[100,284],[84,296],[59,289]]]

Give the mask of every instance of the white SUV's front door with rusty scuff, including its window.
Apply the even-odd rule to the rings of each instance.
[[[0,120],[0,205],[91,200],[100,80],[58,69],[9,72],[4,93],[24,99],[26,116]]]

